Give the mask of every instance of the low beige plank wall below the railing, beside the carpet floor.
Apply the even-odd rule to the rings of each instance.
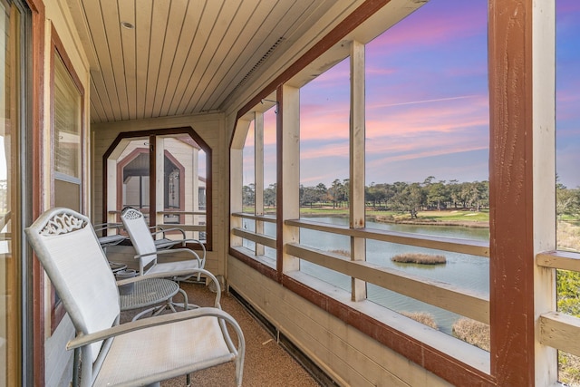
[[[227,283],[343,386],[449,386],[352,326],[228,257]]]

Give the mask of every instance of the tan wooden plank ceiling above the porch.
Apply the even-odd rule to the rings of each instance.
[[[223,110],[334,3],[67,1],[91,63],[92,123]]]

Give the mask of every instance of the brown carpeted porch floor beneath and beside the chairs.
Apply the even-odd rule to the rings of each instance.
[[[182,283],[181,288],[188,294],[190,304],[213,305],[216,294],[212,293],[208,286]],[[176,302],[181,302],[179,295],[176,295],[175,299]],[[319,385],[284,348],[276,343],[275,338],[247,312],[247,309],[236,298],[227,292],[222,292],[221,306],[237,320],[246,338],[246,360],[242,383],[244,386],[315,387]],[[121,321],[129,321],[137,313],[139,310],[123,312]],[[234,343],[237,343],[235,334],[232,339]],[[161,387],[185,385],[185,376],[161,382]],[[191,385],[235,386],[234,364],[227,363],[192,373]]]

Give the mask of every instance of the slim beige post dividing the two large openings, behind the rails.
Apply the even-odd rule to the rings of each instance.
[[[365,227],[364,219],[364,44],[351,43],[351,120],[349,223],[351,228]],[[366,260],[366,241],[351,237],[351,259]],[[366,298],[366,282],[352,277],[353,301]]]

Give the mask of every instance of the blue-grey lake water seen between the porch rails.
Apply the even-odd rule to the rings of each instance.
[[[348,225],[348,218],[344,217],[303,219],[333,225]],[[254,222],[252,220],[244,219],[244,223],[245,227],[248,229],[254,229]],[[401,225],[378,223],[374,222],[371,218],[367,219],[366,227],[440,237],[455,237],[483,241],[489,240],[488,228]],[[275,236],[275,225],[266,223],[265,233],[270,236]],[[350,237],[338,236],[309,229],[301,230],[300,243],[304,246],[315,247],[324,251],[350,251]],[[245,246],[253,248],[253,244],[251,243],[245,244]],[[397,264],[391,261],[392,256],[411,252],[443,255],[447,258],[447,263],[445,265],[425,266]],[[275,251],[266,248],[266,256],[275,257]],[[421,247],[410,247],[367,240],[366,259],[368,262],[401,270],[414,276],[422,276],[450,285],[455,285],[459,288],[475,292],[478,295],[489,295],[489,259],[487,257],[469,256]],[[316,266],[304,260],[301,261],[300,267],[305,273],[315,276],[327,283],[339,286],[349,292],[351,290],[350,276],[344,276],[343,274],[333,272],[332,270],[326,269],[322,266]],[[405,295],[399,295],[372,284],[368,285],[367,296],[370,301],[397,312],[427,312],[433,316],[440,330],[447,334],[451,333],[452,324],[460,317],[458,314],[453,314],[438,307],[424,304]]]

